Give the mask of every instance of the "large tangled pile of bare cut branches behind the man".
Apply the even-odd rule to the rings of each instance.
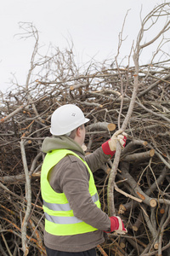
[[[139,91],[127,125],[127,146],[116,172],[115,207],[127,235],[110,234],[102,255],[168,255],[170,248],[170,69],[139,68]],[[90,119],[87,154],[105,143],[127,114],[134,67],[100,69],[66,79],[37,79],[3,95],[0,131],[1,255],[45,255],[40,173],[50,136],[50,117],[66,103]],[[60,82],[59,82],[60,80]],[[122,93],[123,91],[123,93]],[[113,159],[94,172],[102,210],[108,213],[107,185]],[[166,254],[167,252],[167,254]],[[161,254],[160,254],[161,255]]]

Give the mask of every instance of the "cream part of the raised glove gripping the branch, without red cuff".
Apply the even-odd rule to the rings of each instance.
[[[122,148],[124,148],[127,142],[127,133],[120,129],[113,134],[111,139],[108,141],[111,151],[116,151],[117,141],[121,144]]]

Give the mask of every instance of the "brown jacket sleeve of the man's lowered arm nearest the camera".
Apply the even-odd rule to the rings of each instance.
[[[67,155],[58,165],[57,175],[51,177],[53,189],[56,189],[56,183],[59,183],[60,191],[65,193],[77,218],[96,229],[110,230],[110,218],[94,204],[89,194],[89,173],[83,162],[75,156]]]

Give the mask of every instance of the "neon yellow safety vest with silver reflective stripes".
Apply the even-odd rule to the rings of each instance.
[[[45,230],[54,236],[72,236],[97,230],[93,226],[86,224],[81,219],[75,217],[65,194],[55,192],[48,182],[49,171],[59,162],[59,160],[63,159],[66,154],[73,154],[77,156],[78,159],[82,160],[80,156],[71,150],[54,149],[46,154],[42,164],[41,192],[43,211],[45,213]],[[90,174],[89,193],[92,196],[94,203],[100,208],[99,195],[94,184],[93,173],[86,161],[82,160],[82,162],[87,166]]]

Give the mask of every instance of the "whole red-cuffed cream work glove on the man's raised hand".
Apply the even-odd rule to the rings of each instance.
[[[127,133],[122,132],[122,130],[116,131],[109,141],[107,141],[101,145],[103,152],[105,154],[111,154],[111,157],[112,157],[116,152],[116,141],[117,140],[121,144],[122,148],[124,148],[126,145],[126,142],[127,142]]]

